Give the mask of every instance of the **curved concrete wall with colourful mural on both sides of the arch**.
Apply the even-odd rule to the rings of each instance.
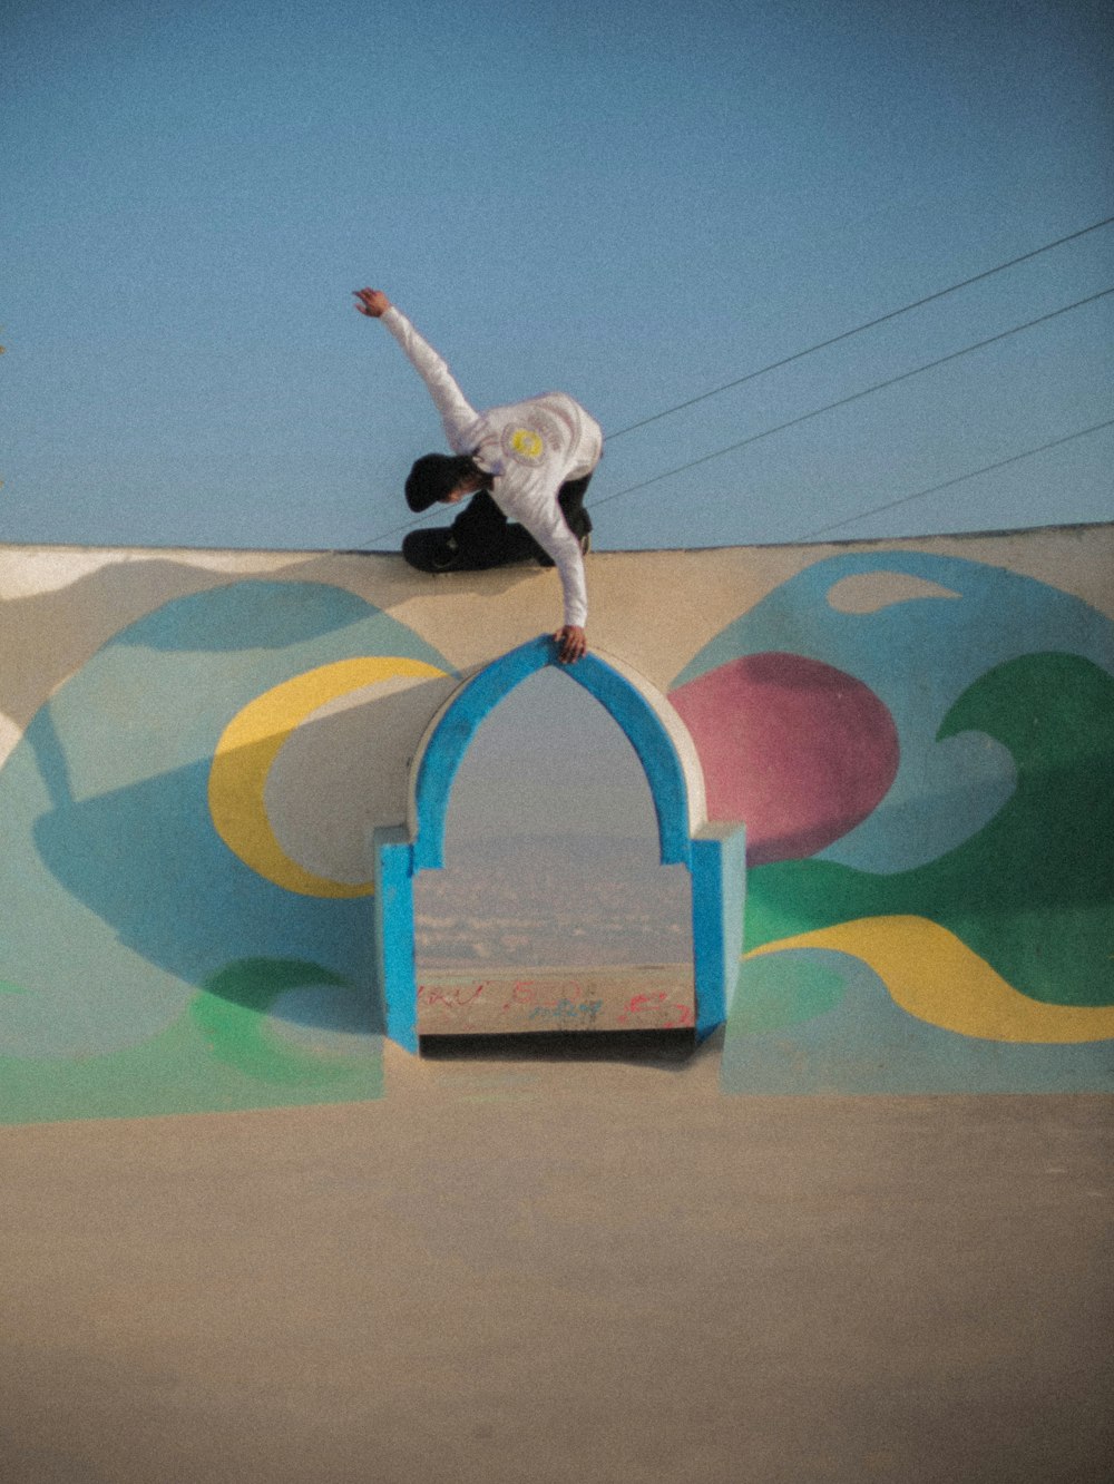
[[[1114,527],[599,554],[743,821],[725,1094],[1114,1089]],[[0,1120],[378,1097],[375,827],[552,573],[0,548]]]

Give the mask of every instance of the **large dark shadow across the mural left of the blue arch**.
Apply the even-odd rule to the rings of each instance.
[[[266,956],[314,962],[366,991],[374,971],[365,840],[383,818],[377,807],[405,798],[405,758],[398,764],[402,787],[392,795],[383,770],[375,776],[374,746],[356,751],[353,736],[412,729],[442,690],[417,684],[307,721],[297,733],[301,766],[280,776],[271,791],[277,801],[251,792],[258,776],[251,745],[224,754],[228,773],[239,769],[245,781],[231,844],[211,816],[209,757],[79,800],[46,706],[25,735],[52,804],[33,824],[37,855],[120,944],[187,984],[218,994],[227,988],[234,999],[239,990],[220,971]],[[362,792],[360,773],[369,779]],[[286,831],[279,822],[276,834],[285,800],[297,803],[298,815]],[[312,895],[289,884],[304,880]]]

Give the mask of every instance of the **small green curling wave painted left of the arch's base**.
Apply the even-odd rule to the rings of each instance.
[[[319,1085],[344,1076],[337,1058],[282,1046],[268,1036],[267,1011],[288,990],[331,984],[357,991],[319,963],[301,959],[240,959],[211,974],[190,1015],[221,1061],[260,1082]]]

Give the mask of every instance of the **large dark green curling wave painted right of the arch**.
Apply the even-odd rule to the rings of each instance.
[[[748,948],[856,917],[915,914],[1035,1000],[1114,1003],[1114,678],[1075,654],[1025,654],[960,696],[939,738],[960,732],[995,738],[1018,764],[1018,787],[994,819],[894,876],[828,861],[757,867]]]

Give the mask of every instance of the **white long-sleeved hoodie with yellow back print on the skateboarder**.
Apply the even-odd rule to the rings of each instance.
[[[478,413],[445,361],[401,310],[392,306],[383,324],[429,387],[449,448],[455,454],[472,454],[481,469],[494,475],[491,499],[506,516],[525,525],[553,558],[565,595],[565,623],[583,628],[587,620],[584,558],[556,497],[567,479],[583,479],[599,463],[604,451],[599,423],[564,392],[546,392]]]

